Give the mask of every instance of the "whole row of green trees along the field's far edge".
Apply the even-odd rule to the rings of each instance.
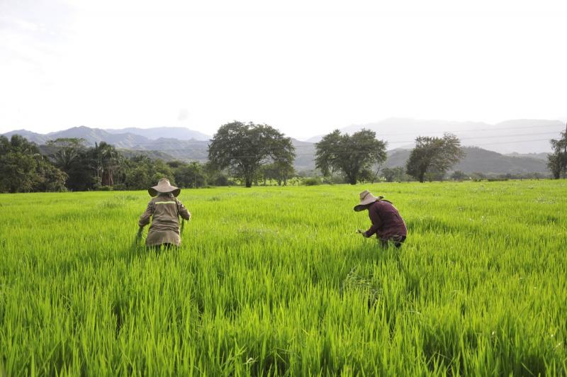
[[[443,137],[419,136],[405,167],[385,168],[388,143],[372,130],[349,135],[334,130],[315,144],[315,167],[325,181],[342,177],[349,184],[364,181],[444,179],[464,157],[461,142],[450,133]],[[567,175],[567,130],[551,140],[554,153],[548,167],[554,178]],[[140,190],[166,176],[182,188],[250,187],[266,181],[286,185],[298,176],[290,137],[266,124],[234,121],[220,126],[208,147],[208,162],[164,162],[145,155],[126,158],[106,142],[87,146],[79,138],[50,140],[42,146],[20,135],[0,136],[0,192]],[[479,179],[482,173],[476,174]],[[451,179],[466,176],[454,171]],[[510,175],[510,177],[512,177]],[[305,184],[318,184],[305,179]]]

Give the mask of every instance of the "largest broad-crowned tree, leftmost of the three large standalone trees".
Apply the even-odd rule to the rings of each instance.
[[[265,124],[234,121],[220,126],[208,146],[208,159],[218,169],[229,168],[235,176],[252,187],[262,164],[293,164],[295,148],[289,137]]]

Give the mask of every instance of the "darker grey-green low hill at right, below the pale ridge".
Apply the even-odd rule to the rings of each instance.
[[[515,174],[539,172],[549,174],[546,161],[534,157],[511,157],[483,150],[478,147],[464,147],[466,157],[456,164],[452,170],[461,170],[466,173],[480,171],[485,174]],[[410,157],[410,150],[391,150],[388,152],[386,167],[405,167]]]

